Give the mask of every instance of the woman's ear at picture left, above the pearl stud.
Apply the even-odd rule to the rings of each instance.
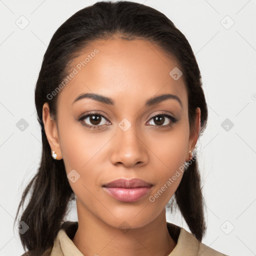
[[[45,102],[42,106],[42,121],[44,125],[45,134],[47,136],[47,140],[51,148],[51,152],[52,150],[54,150],[57,154],[56,159],[60,160],[62,158],[62,155],[58,139],[57,124],[56,120],[53,120],[50,117],[49,105],[47,102]]]

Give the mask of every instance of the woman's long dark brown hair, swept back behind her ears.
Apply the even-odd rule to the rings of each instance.
[[[29,196],[19,221],[29,229],[19,234],[23,248],[29,255],[48,255],[60,225],[66,216],[68,204],[75,199],[65,172],[63,159],[54,160],[42,121],[42,106],[48,102],[50,115],[57,117],[58,94],[47,98],[67,75],[72,61],[97,39],[109,37],[124,40],[144,39],[159,46],[174,57],[182,70],[188,95],[189,128],[195,127],[195,108],[199,107],[201,135],[207,121],[207,105],[201,84],[201,75],[195,56],[185,36],[173,22],[158,10],[130,1],[99,1],[69,17],[53,34],[43,56],[35,86],[35,107],[41,126],[42,151],[36,174],[25,187],[16,212]],[[189,229],[201,241],[206,230],[204,200],[200,186],[197,160],[183,173],[174,193],[175,202]],[[14,221],[14,222],[15,222]]]

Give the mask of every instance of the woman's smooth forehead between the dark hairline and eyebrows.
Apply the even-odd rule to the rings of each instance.
[[[129,104],[131,100],[141,102],[153,95],[172,93],[186,105],[183,77],[173,79],[173,68],[181,69],[172,56],[149,41],[96,40],[73,60],[67,75],[75,74],[61,89],[58,101],[71,105],[79,94],[88,92]]]

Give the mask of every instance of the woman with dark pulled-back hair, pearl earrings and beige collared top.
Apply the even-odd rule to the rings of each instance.
[[[35,105],[42,156],[18,207],[31,192],[23,255],[224,255],[201,243],[200,71],[164,14],[128,1],[77,11],[48,45]],[[64,221],[74,199],[78,222]],[[191,233],[166,222],[170,199]]]

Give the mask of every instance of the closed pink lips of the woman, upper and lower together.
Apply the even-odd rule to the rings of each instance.
[[[140,178],[119,178],[104,184],[103,190],[119,201],[134,202],[144,197],[152,186]]]

